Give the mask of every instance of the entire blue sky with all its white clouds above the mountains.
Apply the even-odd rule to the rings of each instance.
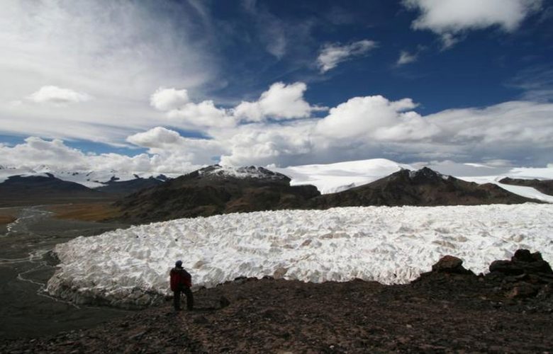
[[[2,0],[0,165],[553,164],[550,0]]]

